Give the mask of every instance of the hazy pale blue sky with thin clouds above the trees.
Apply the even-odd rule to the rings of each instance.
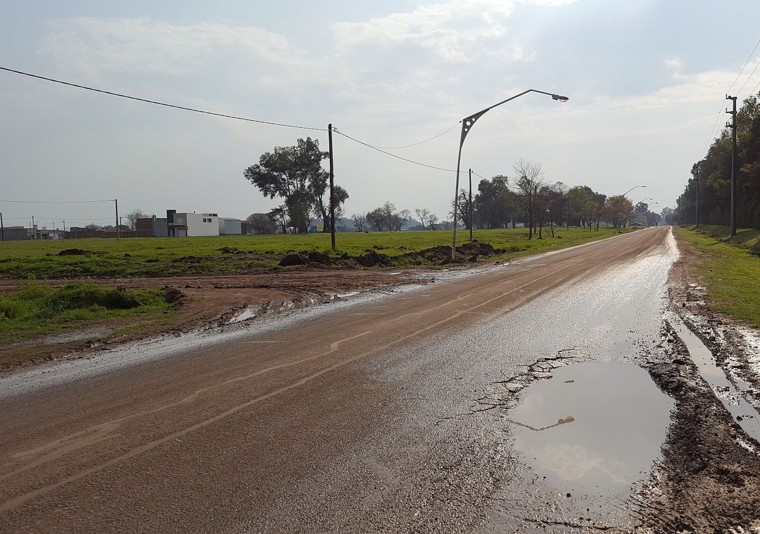
[[[735,24],[729,24],[737,17]],[[760,2],[435,0],[101,2],[5,0],[0,66],[178,106],[338,131],[367,144],[424,141],[492,109],[462,168],[545,179],[673,206],[692,164],[760,83]],[[748,61],[749,58],[749,61]],[[737,74],[743,73],[737,79]],[[751,75],[750,75],[751,74]],[[739,88],[742,88],[739,91]],[[755,90],[756,91],[756,90]],[[326,131],[201,115],[0,71],[5,225],[109,223],[166,209],[245,218],[280,204],[243,178],[276,146]],[[459,127],[388,152],[454,169]],[[325,161],[325,168],[327,161]],[[455,173],[334,134],[347,213],[385,201],[444,219]],[[461,175],[464,183],[467,175]],[[476,176],[473,180],[477,187]]]

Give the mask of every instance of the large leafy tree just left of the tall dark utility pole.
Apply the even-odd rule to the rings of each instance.
[[[309,212],[326,180],[321,162],[329,154],[319,150],[319,141],[306,137],[293,147],[274,147],[261,154],[258,163],[243,171],[246,180],[270,198],[283,198],[290,226],[306,232]],[[321,197],[321,194],[320,194]]]

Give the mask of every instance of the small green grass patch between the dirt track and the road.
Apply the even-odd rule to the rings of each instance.
[[[120,318],[169,308],[161,289],[117,289],[80,282],[49,287],[25,283],[0,294],[0,343],[11,343],[62,330],[87,321]]]

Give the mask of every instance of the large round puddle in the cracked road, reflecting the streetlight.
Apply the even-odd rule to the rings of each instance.
[[[581,363],[528,387],[509,418],[515,449],[537,476],[563,492],[601,496],[644,478],[672,408],[637,365]]]

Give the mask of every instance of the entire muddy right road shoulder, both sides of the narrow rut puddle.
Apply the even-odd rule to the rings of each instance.
[[[757,411],[758,373],[752,366],[757,347],[746,343],[742,325],[709,308],[709,296],[694,274],[700,254],[677,241],[682,255],[670,272],[671,309],[708,346],[730,381],[745,382],[744,391],[753,397],[747,400]],[[676,401],[676,410],[663,460],[632,499],[640,520],[634,532],[757,532],[760,444],[716,397],[667,321],[662,343],[641,366]]]

